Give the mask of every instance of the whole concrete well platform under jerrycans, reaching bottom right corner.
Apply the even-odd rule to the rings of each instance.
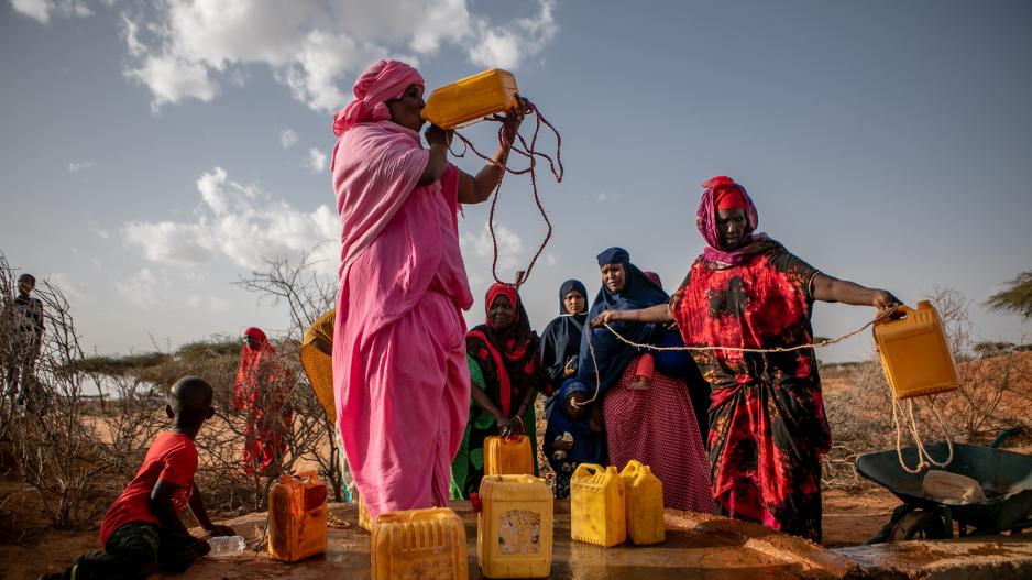
[[[466,533],[470,578],[476,566],[476,514],[453,502]],[[370,535],[352,504],[330,504],[328,549],[297,563],[268,559],[262,549],[227,560],[202,558],[187,576],[201,580],[252,578],[370,578]],[[262,537],[264,513],[228,522],[249,541]],[[1032,578],[1032,538],[911,541],[830,550],[757,524],[721,516],[667,512],[667,541],[599,548],[570,539],[569,502],[556,502],[551,578],[558,579],[866,579]],[[195,530],[199,533],[199,530]],[[164,578],[164,577],[163,577]],[[182,577],[167,577],[182,578]]]

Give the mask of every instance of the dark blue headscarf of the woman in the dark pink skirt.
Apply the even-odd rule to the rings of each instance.
[[[589,322],[605,310],[638,310],[670,302],[670,296],[662,288],[649,280],[645,272],[630,263],[630,254],[627,253],[627,250],[610,248],[599,254],[599,267],[607,264],[619,264],[624,267],[624,288],[619,292],[610,292],[603,284],[597,296],[595,296],[595,302],[591,305],[591,310],[588,313]],[[656,325],[652,324],[618,321],[611,322],[610,326],[627,340],[639,344],[650,343],[656,331]],[[577,379],[592,390],[595,387],[595,365],[588,349],[588,339],[591,340],[595,351],[595,359],[599,361],[599,379],[601,381],[599,394],[601,395],[619,383],[621,375],[624,374],[630,360],[638,354],[638,350],[622,342],[605,327],[591,328],[585,326],[581,340]]]

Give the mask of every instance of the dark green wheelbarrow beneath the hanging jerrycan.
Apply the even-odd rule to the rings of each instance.
[[[1032,456],[999,449],[1006,439],[1023,431],[1021,427],[1008,429],[988,447],[953,445],[953,461],[944,471],[977,481],[986,494],[986,501],[978,503],[930,497],[922,486],[925,472],[903,470],[896,449],[859,456],[857,473],[888,489],[903,502],[881,532],[865,544],[949,539],[954,522],[960,537],[1004,532],[1020,534],[1032,528]],[[935,458],[949,453],[944,442],[926,445],[925,449]],[[907,464],[918,463],[915,447],[904,447],[902,455]]]

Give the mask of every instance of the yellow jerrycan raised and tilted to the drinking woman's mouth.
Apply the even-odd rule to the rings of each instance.
[[[454,129],[515,109],[518,90],[512,73],[492,68],[435,89],[421,114],[442,129]]]

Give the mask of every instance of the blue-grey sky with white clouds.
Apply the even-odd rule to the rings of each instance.
[[[630,7],[634,8],[630,8]],[[10,0],[0,4],[0,249],[59,284],[98,352],[287,325],[232,285],[316,248],[336,271],[330,117],[380,57],[428,88],[492,66],[562,134],[556,227],[523,289],[535,328],[567,277],[623,245],[672,291],[713,175],[828,274],[914,303],[971,300],[980,339],[1032,339],[982,300],[1032,269],[1032,4],[1024,1]],[[492,147],[490,128],[468,134]],[[466,171],[479,166],[457,162]],[[463,251],[482,318],[487,206]],[[499,200],[504,266],[544,233],[527,179]],[[867,308],[819,305],[819,335]],[[870,354],[867,336],[819,353]]]

